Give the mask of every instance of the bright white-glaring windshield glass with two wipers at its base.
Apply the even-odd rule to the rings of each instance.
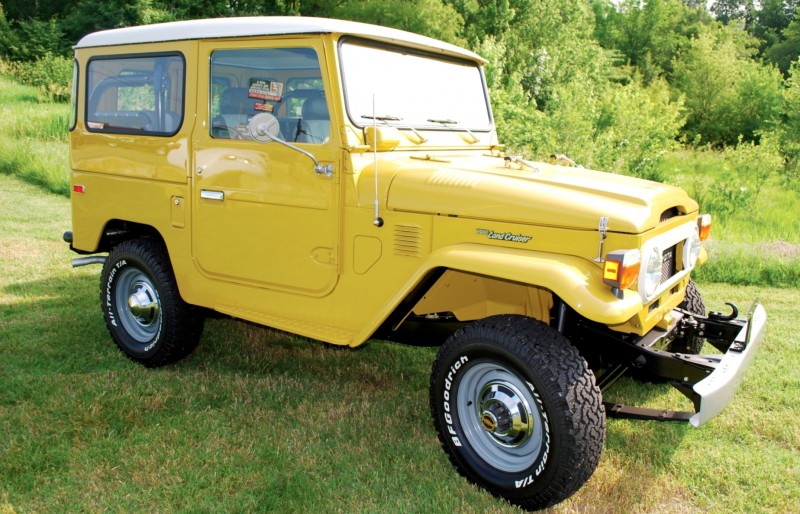
[[[491,129],[477,63],[356,42],[340,51],[347,111],[356,125],[375,118],[401,128]]]

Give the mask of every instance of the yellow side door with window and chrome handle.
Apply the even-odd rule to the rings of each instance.
[[[200,55],[209,64],[199,83],[210,88],[198,94],[207,109],[193,142],[196,266],[216,280],[326,295],[338,277],[340,164],[322,43],[220,41],[201,43]],[[307,120],[311,98],[317,119]],[[279,137],[333,164],[333,176],[296,149],[253,140],[247,123],[261,113],[277,117]]]

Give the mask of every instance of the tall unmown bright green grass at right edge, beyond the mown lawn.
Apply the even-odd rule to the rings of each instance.
[[[778,173],[748,176],[720,152],[680,151],[660,173],[713,217],[702,282],[800,287],[800,184]]]

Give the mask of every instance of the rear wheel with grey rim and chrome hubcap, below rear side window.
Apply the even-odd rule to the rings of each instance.
[[[185,357],[203,332],[200,310],[181,298],[169,256],[154,239],[125,241],[111,251],[100,304],[119,349],[148,367]]]

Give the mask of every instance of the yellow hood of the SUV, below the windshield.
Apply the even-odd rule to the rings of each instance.
[[[464,163],[401,159],[384,163],[380,173],[391,176],[386,206],[399,211],[586,230],[597,230],[605,216],[610,231],[638,234],[658,225],[664,213],[698,208],[674,186],[535,165],[535,170],[518,164],[506,168],[494,157]]]

